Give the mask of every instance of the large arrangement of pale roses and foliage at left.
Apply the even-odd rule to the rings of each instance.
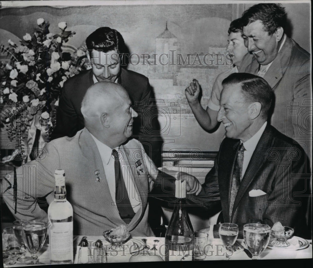
[[[37,25],[33,33],[23,36],[20,45],[8,40],[9,46],[0,47],[9,58],[8,63],[0,64],[0,122],[10,140],[19,140],[20,149],[26,146],[25,138],[35,119],[49,141],[63,83],[87,69],[84,50],[73,55],[62,51],[62,45],[75,34],[65,31],[66,22],[58,24],[58,34],[49,32],[49,22],[43,18],[38,18]]]

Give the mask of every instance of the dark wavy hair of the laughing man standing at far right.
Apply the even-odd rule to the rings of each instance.
[[[277,28],[282,27],[285,30],[287,14],[281,4],[257,4],[244,11],[242,15],[243,26],[260,20],[264,25],[264,31],[272,35]]]

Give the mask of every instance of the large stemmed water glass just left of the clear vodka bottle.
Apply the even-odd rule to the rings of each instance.
[[[46,240],[47,226],[47,223],[39,220],[30,220],[22,223],[24,244],[33,258],[29,264],[40,264],[38,251],[42,248]]]

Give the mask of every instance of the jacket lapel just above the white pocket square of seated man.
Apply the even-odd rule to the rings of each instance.
[[[244,177],[242,178],[242,181],[240,183],[240,186],[237,192],[237,196],[236,196],[234,206],[233,206],[232,218],[233,218],[234,211],[239,205],[240,200],[246,194],[246,191],[248,190],[250,184],[254,180],[259,179],[257,176],[259,173],[259,170],[262,169],[264,163],[267,161],[266,152],[269,148],[271,148],[271,144],[273,142],[273,134],[270,128],[271,127],[269,125],[266,126],[252,154],[247,170],[244,174]]]

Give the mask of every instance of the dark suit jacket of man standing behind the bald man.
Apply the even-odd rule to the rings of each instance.
[[[157,120],[154,93],[145,76],[121,68],[118,83],[128,92],[134,110],[138,112],[133,124],[132,137],[143,144],[146,153],[157,166],[161,164],[162,139]],[[87,89],[94,84],[92,70],[69,78],[63,86],[57,111],[57,122],[52,139],[69,136],[84,128],[84,117],[80,111]],[[154,116],[151,116],[154,115]]]

